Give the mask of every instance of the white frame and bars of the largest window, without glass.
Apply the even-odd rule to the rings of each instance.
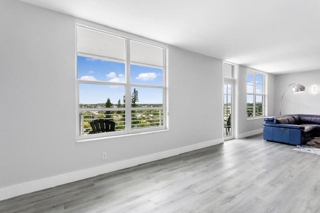
[[[92,55],[83,53],[83,52],[77,52],[77,45],[75,45],[75,81],[76,81],[76,141],[77,142],[85,142],[85,141],[92,141],[92,140],[100,140],[100,139],[106,139],[106,138],[113,138],[113,137],[122,137],[122,136],[129,136],[133,134],[139,134],[139,133],[152,133],[152,132],[158,132],[158,131],[163,131],[168,129],[168,92],[167,92],[167,55],[168,55],[168,46],[165,44],[161,44],[155,41],[151,41],[148,39],[140,38],[135,35],[131,35],[129,33],[117,31],[114,29],[109,29],[107,27],[97,27],[96,24],[94,24],[94,27],[84,25],[77,23],[75,25],[76,27],[83,27],[87,29],[93,29],[99,32],[107,33],[110,35],[114,35],[117,37],[121,37],[125,39],[125,83],[112,83],[112,82],[107,82],[107,81],[86,81],[86,80],[80,80],[77,78],[77,56],[85,56],[85,57],[92,57]],[[103,28],[103,29],[101,29]],[[76,32],[76,30],[75,30]],[[76,36],[75,36],[76,39]],[[147,45],[152,45],[156,46],[159,48],[162,48],[163,50],[163,66],[162,68],[162,76],[163,76],[163,85],[158,86],[158,85],[148,85],[148,84],[133,84],[130,82],[130,41],[135,41],[135,42],[141,42]],[[77,42],[75,42],[77,44]],[[100,57],[101,59],[106,59],[107,57],[103,56],[94,56],[95,58]],[[109,59],[110,60],[110,59]],[[113,60],[114,61],[114,60]],[[119,60],[117,60],[119,61]],[[144,65],[145,64],[139,64],[134,62],[136,65]],[[155,66],[151,66],[155,67]],[[159,67],[157,67],[159,68]],[[98,133],[98,134],[90,134],[90,135],[81,135],[80,134],[80,119],[79,119],[79,84],[80,83],[90,83],[90,84],[102,84],[102,85],[116,85],[116,86],[124,86],[125,87],[125,97],[126,100],[128,100],[129,104],[125,104],[125,130],[122,131],[115,131],[115,132],[106,132],[106,133]],[[140,129],[131,129],[131,110],[146,110],[147,108],[145,107],[131,107],[131,87],[146,87],[146,88],[160,88],[162,89],[162,113],[163,113],[163,126],[159,127],[150,127],[150,128],[140,128]],[[101,110],[100,110],[101,111]]]

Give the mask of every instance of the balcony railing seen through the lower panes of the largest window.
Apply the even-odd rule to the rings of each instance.
[[[92,131],[90,122],[96,119],[108,119],[115,122],[115,131],[126,130],[125,108],[80,108],[80,135],[86,135]],[[162,107],[131,108],[131,130],[161,126],[163,126]]]

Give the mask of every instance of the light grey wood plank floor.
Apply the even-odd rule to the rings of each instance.
[[[320,156],[293,148],[231,140],[1,201],[0,213],[318,213]]]

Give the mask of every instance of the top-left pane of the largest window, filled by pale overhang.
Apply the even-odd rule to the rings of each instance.
[[[78,53],[125,60],[124,38],[83,27],[76,27],[76,44]]]

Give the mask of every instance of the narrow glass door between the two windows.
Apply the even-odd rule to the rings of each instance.
[[[233,98],[233,82],[224,81],[224,93],[223,93],[223,136],[224,140],[233,138],[232,131],[232,98]]]

